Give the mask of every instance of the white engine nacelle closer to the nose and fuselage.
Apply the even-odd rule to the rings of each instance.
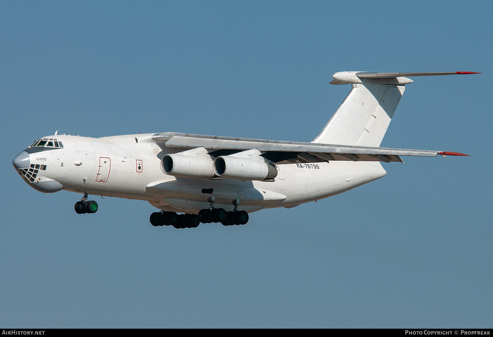
[[[161,160],[164,173],[185,178],[212,178],[216,176],[212,166],[214,161],[208,157],[185,154],[168,154]]]

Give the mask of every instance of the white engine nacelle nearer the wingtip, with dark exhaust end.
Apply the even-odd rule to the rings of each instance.
[[[241,180],[270,180],[277,176],[277,169],[262,157],[220,156],[214,161],[214,172],[222,178]]]

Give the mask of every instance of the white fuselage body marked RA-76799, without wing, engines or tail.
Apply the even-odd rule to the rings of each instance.
[[[30,164],[39,170],[34,188],[56,182],[67,191],[145,200],[162,210],[197,213],[209,208],[209,198],[226,211],[247,212],[262,208],[294,207],[350,190],[386,174],[379,162],[330,161],[313,164],[277,165],[274,181],[182,178],[161,169],[166,154],[179,152],[159,145],[153,134],[90,138],[56,135],[63,148],[29,151]],[[41,192],[47,191],[36,188]],[[203,189],[212,189],[204,193]]]

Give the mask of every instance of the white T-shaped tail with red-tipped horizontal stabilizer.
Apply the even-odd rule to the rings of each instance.
[[[404,93],[404,86],[413,82],[403,76],[472,73],[478,72],[336,72],[330,84],[351,83],[352,89],[313,142],[378,147]]]

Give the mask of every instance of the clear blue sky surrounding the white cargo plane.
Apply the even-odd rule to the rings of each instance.
[[[489,327],[492,4],[3,1],[0,325]],[[41,194],[11,165],[55,130],[310,141],[337,71],[480,71],[406,87],[387,175],[246,226],[154,228],[147,202]],[[99,198],[99,199],[98,199]]]

